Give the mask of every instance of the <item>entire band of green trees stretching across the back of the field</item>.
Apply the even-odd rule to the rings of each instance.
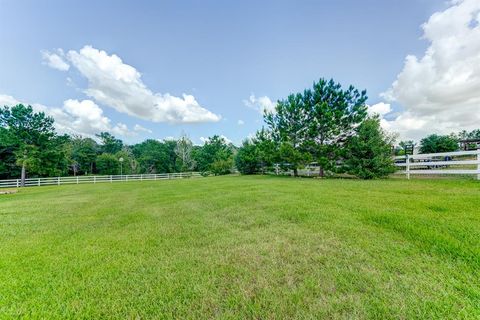
[[[348,174],[362,179],[395,171],[392,155],[416,147],[382,130],[380,119],[367,113],[367,94],[353,86],[320,79],[312,88],[278,101],[264,113],[265,126],[240,147],[215,135],[203,146],[186,136],[148,139],[127,145],[108,132],[94,138],[60,135],[54,119],[22,104],[0,109],[0,179],[90,174],[143,174],[200,171],[215,175],[317,167],[319,176]],[[480,139],[480,130],[430,135],[421,153],[459,149],[459,140]],[[469,145],[474,144],[474,145]],[[466,147],[476,147],[467,142]]]

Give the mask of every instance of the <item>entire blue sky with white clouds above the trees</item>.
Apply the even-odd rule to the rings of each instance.
[[[0,0],[0,105],[127,143],[214,134],[319,78],[399,139],[480,127],[480,1]]]

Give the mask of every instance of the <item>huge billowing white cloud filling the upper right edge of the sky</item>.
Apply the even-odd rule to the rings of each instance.
[[[409,55],[382,96],[404,111],[387,129],[402,138],[447,134],[480,126],[480,2],[455,1],[423,24],[430,42],[421,58]]]

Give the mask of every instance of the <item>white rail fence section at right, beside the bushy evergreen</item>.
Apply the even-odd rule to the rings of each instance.
[[[395,165],[404,168],[397,173],[407,179],[415,174],[459,174],[475,175],[480,180],[480,150],[399,156]]]

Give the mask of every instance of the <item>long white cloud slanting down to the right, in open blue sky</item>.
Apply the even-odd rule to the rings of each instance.
[[[128,115],[153,122],[216,122],[219,115],[203,108],[194,96],[152,92],[141,74],[115,54],[85,46],[66,58],[88,80],[85,93],[97,102]]]

